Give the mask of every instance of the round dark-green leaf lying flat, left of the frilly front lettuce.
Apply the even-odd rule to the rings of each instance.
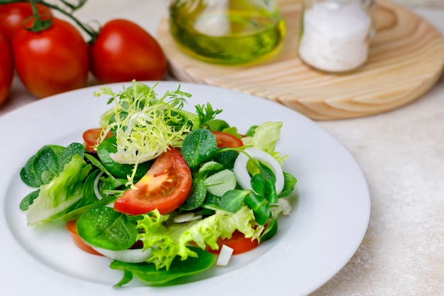
[[[133,246],[138,230],[137,223],[130,221],[126,214],[111,207],[94,207],[77,220],[80,238],[99,248],[119,251]]]

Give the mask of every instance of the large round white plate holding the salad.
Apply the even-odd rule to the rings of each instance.
[[[147,82],[153,84],[153,82]],[[157,94],[178,82],[160,82]],[[122,84],[111,84],[115,91]],[[313,121],[274,102],[211,86],[182,83],[193,94],[186,109],[211,102],[218,118],[240,132],[265,121],[283,121],[277,150],[289,155],[284,170],[298,179],[294,211],[282,217],[279,233],[259,248],[232,258],[184,283],[116,289],[123,273],[110,261],[80,251],[63,225],[34,229],[18,208],[30,192],[18,172],[45,144],[82,142],[82,132],[99,125],[109,109],[99,87],[59,94],[0,117],[0,295],[308,295],[335,275],[360,245],[370,217],[367,183],[353,157]],[[254,294],[253,294],[254,293]]]

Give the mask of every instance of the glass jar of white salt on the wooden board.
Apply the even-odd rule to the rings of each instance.
[[[374,6],[374,0],[303,0],[299,58],[325,72],[348,72],[365,64]]]

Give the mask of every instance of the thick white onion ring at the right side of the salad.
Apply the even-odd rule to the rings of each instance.
[[[277,194],[281,193],[282,189],[284,189],[284,172],[282,172],[281,165],[279,165],[277,160],[269,153],[257,148],[246,148],[244,151],[245,153],[248,153],[251,158],[260,160],[262,163],[271,167],[276,176],[276,192]],[[252,190],[250,184],[251,177],[247,170],[247,163],[250,158],[248,158],[245,153],[239,153],[238,158],[236,158],[234,163],[233,172],[236,175],[240,187],[245,190]]]

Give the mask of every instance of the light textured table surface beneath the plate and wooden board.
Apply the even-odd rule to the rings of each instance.
[[[76,15],[101,23],[130,18],[155,35],[166,11],[164,2],[94,0]],[[444,9],[412,9],[444,34]],[[16,77],[0,116],[35,100]],[[362,168],[372,212],[353,258],[313,296],[444,295],[444,78],[400,109],[318,124],[348,148]]]

